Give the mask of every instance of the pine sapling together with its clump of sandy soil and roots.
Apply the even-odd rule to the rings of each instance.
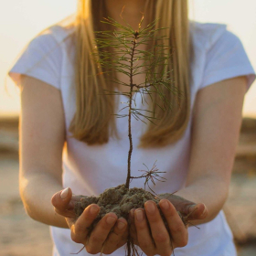
[[[77,217],[80,216],[84,208],[87,208],[90,204],[95,203],[101,207],[98,217],[93,221],[91,230],[99,222],[99,220],[108,212],[114,212],[118,218],[123,217],[127,219],[129,223],[129,211],[132,208],[144,208],[144,203],[147,200],[153,200],[156,204],[160,199],[155,194],[155,191],[149,186],[151,181],[155,185],[155,180],[165,181],[165,178],[161,176],[161,173],[154,164],[149,169],[145,164],[144,174],[142,176],[131,176],[131,160],[133,153],[133,133],[132,133],[132,116],[136,121],[155,123],[155,107],[159,107],[162,111],[172,110],[170,101],[165,97],[163,89],[172,91],[173,95],[181,97],[181,93],[178,93],[172,80],[171,71],[168,70],[168,62],[172,60],[173,48],[165,46],[163,38],[165,36],[157,35],[160,30],[166,27],[154,29],[158,19],[155,19],[152,23],[142,28],[144,16],[142,17],[137,30],[133,30],[126,21],[127,26],[123,26],[111,17],[104,18],[102,23],[118,28],[117,30],[105,30],[96,31],[96,39],[94,50],[91,52],[91,56],[96,61],[98,67],[104,68],[106,76],[115,72],[123,73],[124,76],[129,78],[129,82],[124,82],[116,77],[112,78],[112,82],[118,84],[118,86],[125,86],[129,90],[127,92],[122,91],[105,91],[104,93],[109,95],[124,95],[127,97],[127,102],[123,102],[125,106],[118,112],[113,113],[117,118],[128,118],[128,139],[129,139],[129,152],[127,157],[127,178],[123,185],[118,187],[111,187],[106,189],[98,197],[86,197],[83,196],[80,202],[76,203],[75,211]],[[152,44],[153,39],[155,44]],[[167,38],[169,39],[169,38]],[[157,43],[160,42],[160,43]],[[151,44],[151,45],[150,45]],[[147,46],[146,49],[140,49],[140,46]],[[149,46],[152,46],[150,48]],[[110,51],[106,51],[103,48],[113,48],[115,54]],[[138,64],[141,61],[142,64]],[[161,67],[161,70],[159,70]],[[142,70],[143,69],[143,70]],[[141,83],[134,83],[134,76],[144,74],[145,80]],[[162,104],[157,104],[154,101],[153,94],[156,93],[161,98]],[[133,94],[134,99],[133,99]],[[148,101],[151,101],[152,108],[149,110],[140,109],[136,106],[137,94],[141,97],[142,104],[149,105]],[[123,110],[128,110],[127,113],[122,113]],[[156,125],[156,124],[155,124]],[[156,163],[156,160],[155,160]],[[133,187],[130,188],[130,183],[135,178],[144,178],[144,189]],[[151,192],[146,191],[146,185]],[[159,207],[158,207],[159,208]],[[160,208],[159,208],[160,209]],[[164,215],[161,213],[164,219]],[[180,215],[186,224],[186,219]],[[165,222],[166,225],[166,222]],[[102,249],[103,250],[103,249]],[[127,240],[127,254],[138,255],[133,240],[128,237]]]

